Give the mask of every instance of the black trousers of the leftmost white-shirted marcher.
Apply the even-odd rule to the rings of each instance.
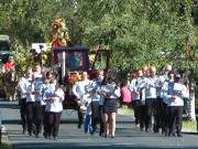
[[[20,114],[21,114],[21,125],[23,130],[26,130],[26,98],[21,98],[19,102],[20,105]]]

